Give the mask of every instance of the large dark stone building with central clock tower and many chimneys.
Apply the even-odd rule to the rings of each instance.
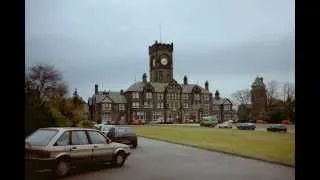
[[[125,91],[101,92],[95,85],[95,94],[89,98],[90,118],[97,122],[129,123],[134,119],[151,121],[163,118],[166,122],[199,122],[203,116],[216,114],[219,121],[232,119],[232,103],[226,98],[215,98],[204,87],[188,83],[187,76],[178,83],[173,78],[173,43],[157,41],[149,46],[149,73]],[[222,109],[221,109],[222,108]]]

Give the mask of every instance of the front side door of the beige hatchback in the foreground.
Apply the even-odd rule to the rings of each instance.
[[[95,162],[105,162],[112,160],[113,147],[109,140],[98,131],[88,131],[88,136],[92,146],[92,160]]]

